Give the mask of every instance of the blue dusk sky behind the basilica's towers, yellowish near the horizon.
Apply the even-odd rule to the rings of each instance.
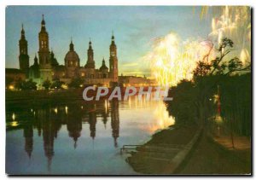
[[[6,8],[6,67],[19,67],[21,24],[24,24],[30,64],[38,52],[38,32],[42,14],[49,32],[49,47],[60,64],[73,37],[80,64],[87,59],[91,38],[96,68],[102,57],[108,60],[112,31],[118,47],[119,73],[146,69],[129,66],[150,50],[154,38],[177,32],[183,38],[207,38],[210,18],[200,20],[200,8],[185,6],[9,6]],[[107,61],[108,62],[108,61]],[[107,63],[108,66],[108,63]]]

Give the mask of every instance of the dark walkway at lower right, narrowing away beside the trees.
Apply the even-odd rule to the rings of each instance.
[[[212,141],[204,133],[178,173],[249,174],[251,173],[251,149],[229,150]]]

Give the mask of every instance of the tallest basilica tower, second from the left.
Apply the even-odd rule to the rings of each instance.
[[[43,20],[41,21],[41,31],[38,34],[39,42],[39,67],[40,67],[40,78],[44,81],[46,79],[51,80],[52,72],[50,65],[50,56],[49,56],[49,36],[46,32],[44,15]]]

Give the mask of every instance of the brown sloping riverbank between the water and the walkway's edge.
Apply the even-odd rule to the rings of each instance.
[[[173,125],[160,131],[127,159],[134,171],[144,174],[172,174],[177,171],[201,129],[197,125]]]

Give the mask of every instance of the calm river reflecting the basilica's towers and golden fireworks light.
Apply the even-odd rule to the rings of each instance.
[[[175,123],[164,102],[69,102],[6,110],[9,174],[137,174],[120,148]]]

